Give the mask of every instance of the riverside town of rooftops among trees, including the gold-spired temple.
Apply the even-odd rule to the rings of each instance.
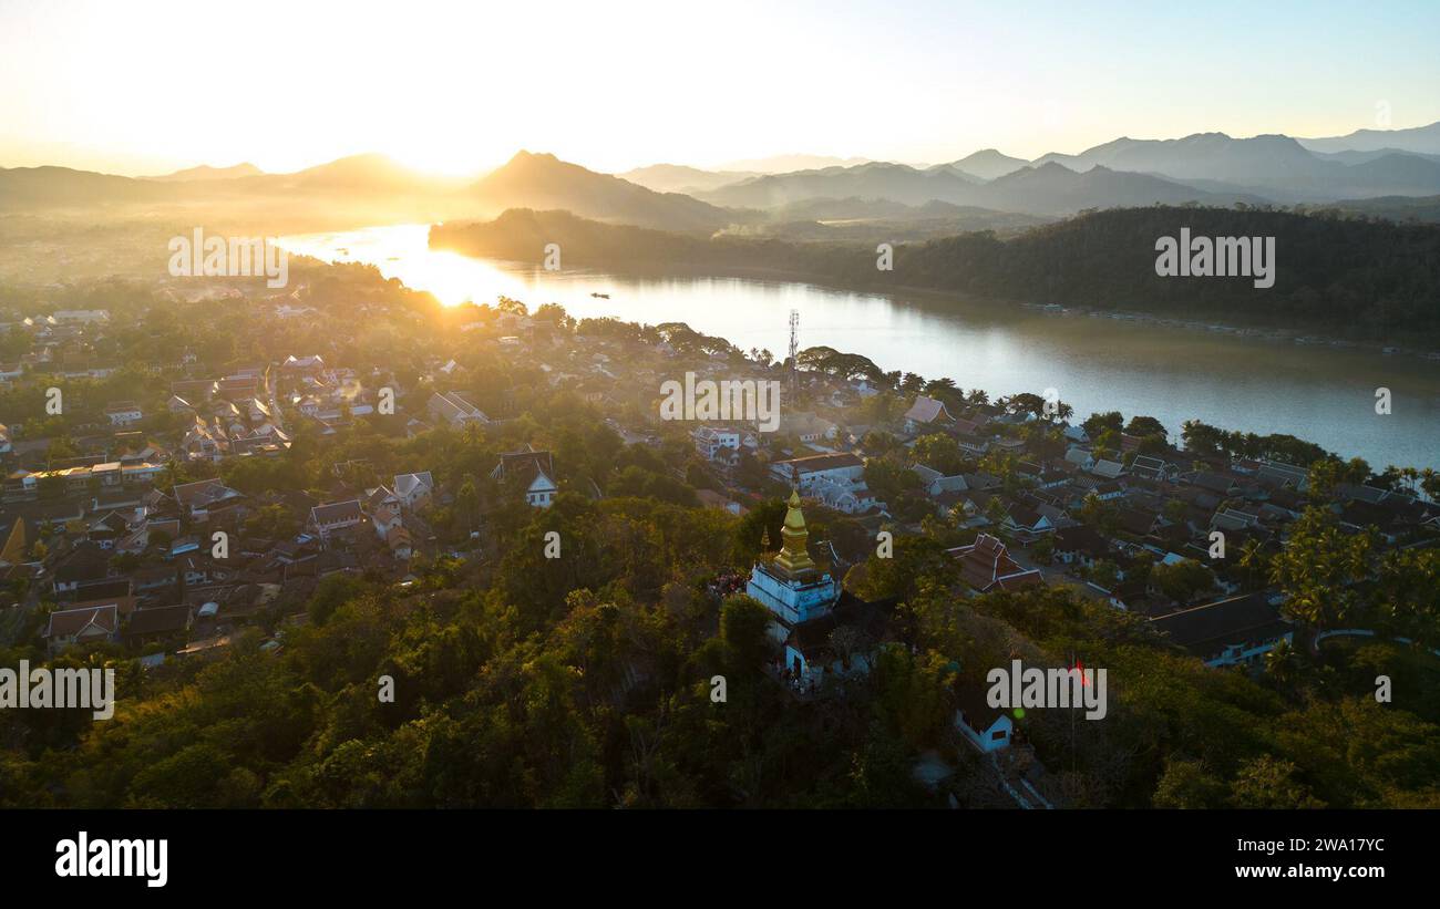
[[[1254,677],[1299,673],[1331,637],[1440,643],[1433,608],[1387,598],[1434,595],[1431,470],[1198,421],[1079,419],[1054,390],[992,397],[793,334],[776,358],[681,322],[441,308],[363,269],[295,270],[285,292],[170,279],[125,303],[4,314],[0,647],[190,677],[278,659],[364,591],[413,604],[520,578],[556,617],[544,603],[569,611],[619,583],[703,643],[740,597],[768,616],[755,669],[795,709],[929,653],[946,719],[917,742],[920,791],[1053,808],[1106,797],[1054,772],[1080,745],[988,703],[982,679],[1012,656],[1056,672],[1094,654],[1007,610],[1096,614],[1125,629],[1102,637]],[[776,383],[775,431],[667,419],[665,383],[694,377]],[[652,516],[649,542],[585,541],[560,518],[636,498],[711,518]],[[608,594],[580,581],[606,577],[602,548],[631,565]],[[655,672],[635,659],[616,690]],[[981,769],[956,791],[965,762]]]

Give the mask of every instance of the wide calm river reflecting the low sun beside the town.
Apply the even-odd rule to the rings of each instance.
[[[742,350],[829,345],[883,370],[985,388],[991,398],[1056,388],[1079,419],[1096,410],[1158,417],[1178,436],[1200,419],[1230,430],[1290,433],[1371,467],[1440,469],[1440,362],[1365,348],[1238,337],[1102,316],[1053,315],[916,293],[858,293],[798,280],[632,278],[431,250],[428,226],[297,234],[279,243],[327,262],[369,262],[441,302],[511,296],[577,318],[687,322]],[[609,299],[592,296],[608,293]],[[1040,301],[1037,301],[1040,302]],[[1397,339],[1403,344],[1404,339]],[[1391,413],[1377,414],[1377,390]]]

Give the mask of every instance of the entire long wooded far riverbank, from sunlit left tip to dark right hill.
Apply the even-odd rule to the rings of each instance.
[[[1250,278],[1162,278],[1162,236],[1276,237],[1274,286]],[[871,246],[740,237],[696,239],[588,221],[564,211],[507,211],[477,224],[436,226],[436,247],[612,270],[779,269],[867,288],[930,288],[1018,302],[1212,316],[1375,339],[1440,338],[1440,226],[1333,214],[1155,206],[1081,214],[999,240],[968,233],[894,250],[876,268]]]

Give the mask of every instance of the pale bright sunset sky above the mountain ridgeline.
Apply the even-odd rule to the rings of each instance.
[[[1440,1],[0,0],[0,167],[1035,157],[1440,119]]]

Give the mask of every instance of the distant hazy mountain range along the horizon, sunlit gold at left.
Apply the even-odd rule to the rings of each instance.
[[[825,165],[765,173],[778,161]],[[1424,217],[1436,206],[1407,200],[1440,196],[1440,124],[1318,140],[1223,132],[1122,137],[1034,161],[994,148],[929,167],[832,161],[782,155],[724,170],[657,164],[612,175],[521,151],[478,180],[433,177],[379,154],[292,174],[265,174],[251,164],[200,165],[151,178],[59,167],[0,168],[0,210],[298,203],[317,209],[354,204],[366,217],[393,211],[395,219],[449,220],[524,207],[661,230],[744,229],[808,239],[841,236],[832,230],[837,223],[847,223],[848,236],[864,236],[852,221],[923,221],[923,230],[916,230],[935,236],[1018,227],[1086,209],[1184,203],[1364,200],[1372,213]]]

